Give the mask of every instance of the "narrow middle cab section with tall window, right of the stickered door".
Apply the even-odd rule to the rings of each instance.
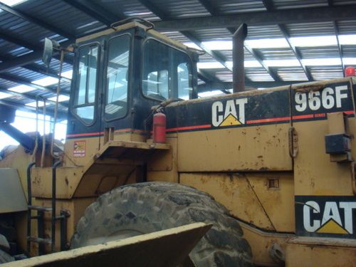
[[[101,100],[102,145],[108,140],[130,140],[134,33],[135,29],[132,28],[105,37]]]

